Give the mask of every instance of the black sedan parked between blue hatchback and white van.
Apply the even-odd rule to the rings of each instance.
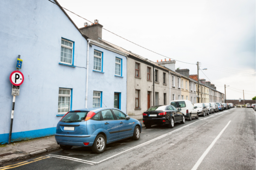
[[[168,125],[173,128],[176,122],[185,123],[184,114],[179,111],[172,105],[152,106],[143,113],[143,124],[146,128],[151,125]]]

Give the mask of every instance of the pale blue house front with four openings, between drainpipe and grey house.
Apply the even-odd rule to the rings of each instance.
[[[93,71],[94,50],[103,52],[103,72]],[[121,93],[121,110],[126,113],[127,58],[107,49],[89,47],[88,108],[93,104],[93,91],[102,92],[102,107],[114,107],[114,93]],[[122,77],[115,76],[116,57],[122,59]]]

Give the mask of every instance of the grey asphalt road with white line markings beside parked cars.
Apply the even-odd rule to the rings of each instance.
[[[5,164],[0,170],[255,170],[255,118],[250,108],[232,108],[177,123],[172,129],[143,128],[139,140],[108,144],[102,154],[85,147],[60,149]]]

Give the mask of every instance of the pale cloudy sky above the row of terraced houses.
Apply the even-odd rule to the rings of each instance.
[[[255,0],[58,0],[61,6],[103,28],[160,53],[155,54],[105,30],[102,39],[152,61],[172,59],[175,67],[211,81],[227,99],[256,95]],[[88,22],[68,12],[81,28]],[[89,23],[90,24],[90,23]]]

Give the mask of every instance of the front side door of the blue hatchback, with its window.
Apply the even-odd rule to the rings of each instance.
[[[133,121],[132,120],[126,120],[126,115],[116,109],[112,109],[112,111],[115,114],[115,117],[119,124],[119,137],[122,138],[125,136],[129,136],[133,134],[132,127],[133,127]]]

